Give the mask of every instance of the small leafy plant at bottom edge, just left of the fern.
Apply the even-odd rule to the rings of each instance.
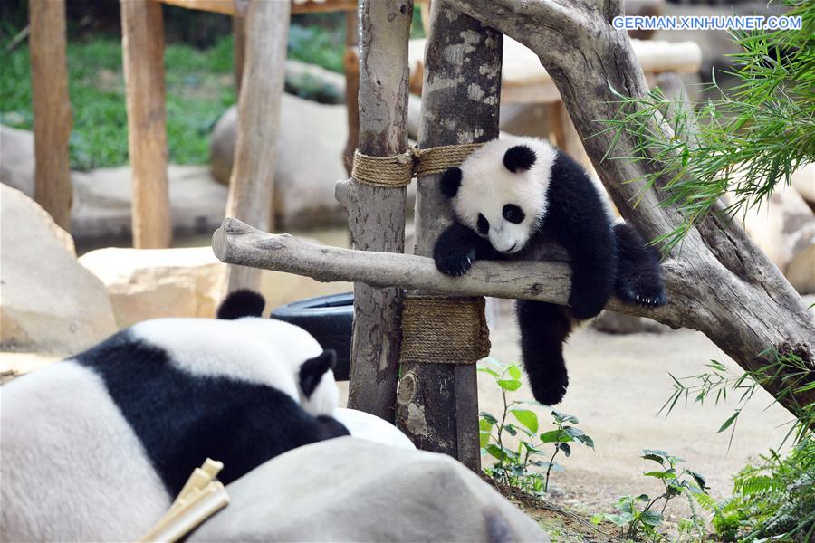
[[[661,541],[663,536],[657,532],[657,527],[664,520],[663,515],[668,502],[678,496],[685,496],[693,513],[691,519],[680,521],[680,532],[689,533],[695,530],[697,537],[703,538],[705,522],[696,513],[695,502],[705,508],[714,507],[714,500],[706,492],[708,487],[705,478],[686,468],[680,470],[678,464],[685,461],[665,451],[645,449],[641,458],[659,464],[659,469],[645,472],[643,475],[660,481],[664,491],[655,498],[647,494],[621,496],[615,506],[618,512],[602,513],[592,520],[595,523],[608,521],[616,525],[620,530],[620,538]]]

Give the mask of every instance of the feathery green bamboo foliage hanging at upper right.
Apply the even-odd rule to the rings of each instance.
[[[725,210],[733,217],[762,205],[815,161],[815,3],[785,4],[785,15],[801,16],[801,30],[734,32],[741,49],[729,72],[735,84],[724,90],[714,80],[722,98],[695,101],[695,112],[658,88],[642,97],[614,91],[618,114],[603,121],[603,132],[613,134],[608,157],[641,163],[643,191],[660,186],[662,204],[676,205],[685,218],[655,240],[666,252],[725,193],[733,195]],[[621,138],[632,142],[633,156],[614,156]]]

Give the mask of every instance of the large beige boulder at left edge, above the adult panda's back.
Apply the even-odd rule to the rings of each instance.
[[[75,353],[116,331],[104,285],[71,235],[22,192],[0,186],[0,347]]]

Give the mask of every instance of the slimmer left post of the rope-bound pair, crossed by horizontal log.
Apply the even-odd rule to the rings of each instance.
[[[413,0],[360,3],[360,152],[387,157],[408,148],[408,37]],[[404,252],[406,188],[340,182],[351,241],[363,251]],[[393,421],[402,294],[354,284],[348,406]]]

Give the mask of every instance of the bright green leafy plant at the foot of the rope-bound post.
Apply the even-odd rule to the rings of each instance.
[[[484,468],[489,476],[510,486],[533,494],[549,490],[551,471],[559,470],[555,458],[561,452],[571,455],[570,443],[581,443],[594,449],[594,441],[589,435],[573,424],[578,424],[577,417],[551,411],[553,430],[538,433],[540,428],[538,414],[526,405],[547,407],[535,401],[510,400],[507,392],[521,388],[521,368],[516,364],[503,365],[493,359],[482,361],[478,371],[492,376],[500,387],[503,398],[503,412],[500,419],[483,411],[478,421],[481,448],[497,461]],[[548,408],[548,407],[547,407]],[[514,422],[510,418],[514,419]],[[509,436],[516,438],[517,447],[509,447]],[[551,444],[551,456],[542,450],[542,446]],[[549,456],[549,460],[542,460]],[[546,469],[545,473],[533,468]]]

